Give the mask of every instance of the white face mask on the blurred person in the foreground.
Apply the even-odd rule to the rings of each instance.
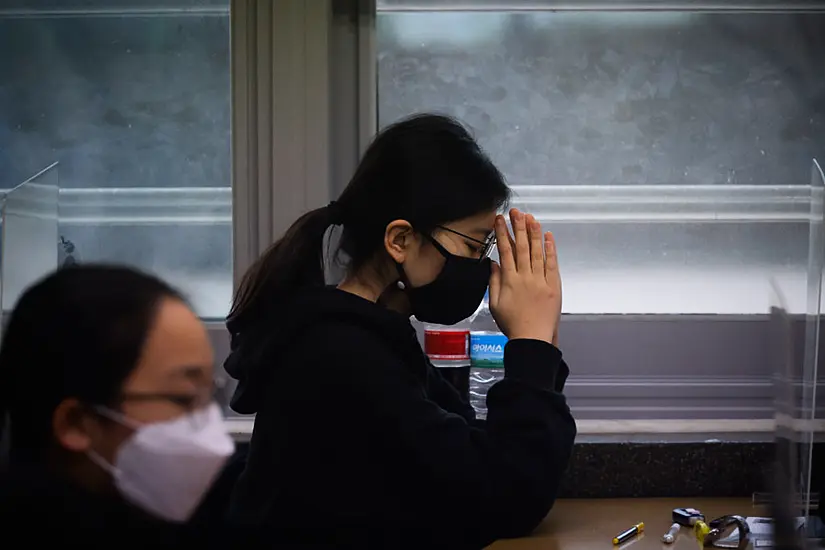
[[[215,403],[154,424],[99,412],[135,433],[121,445],[114,465],[94,451],[89,458],[112,474],[126,499],[169,521],[189,519],[235,450]]]

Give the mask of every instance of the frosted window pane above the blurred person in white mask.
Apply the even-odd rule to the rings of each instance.
[[[72,254],[150,270],[225,315],[229,0],[4,2],[0,51],[2,185],[59,161]]]

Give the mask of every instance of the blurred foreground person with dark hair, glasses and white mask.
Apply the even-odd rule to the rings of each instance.
[[[212,373],[206,330],[159,279],[84,265],[29,288],[0,347],[4,529],[191,531],[234,449]]]

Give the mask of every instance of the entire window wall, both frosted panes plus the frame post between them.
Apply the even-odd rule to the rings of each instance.
[[[154,271],[222,318],[233,252],[242,272],[335,198],[376,126],[446,111],[558,236],[578,419],[772,418],[769,279],[808,309],[822,6],[231,5],[230,102],[229,0],[2,2],[0,182],[59,161],[81,260]]]

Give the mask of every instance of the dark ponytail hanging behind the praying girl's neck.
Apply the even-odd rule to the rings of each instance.
[[[241,279],[226,318],[233,336],[265,316],[284,292],[324,284],[324,236],[336,215],[335,203],[307,212],[255,260]]]

